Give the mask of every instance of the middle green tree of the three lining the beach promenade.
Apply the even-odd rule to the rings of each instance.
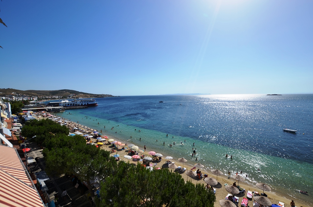
[[[44,149],[46,172],[52,175],[75,174],[89,185],[91,180],[109,176],[117,165],[110,152],[86,145],[82,136],[52,137]]]

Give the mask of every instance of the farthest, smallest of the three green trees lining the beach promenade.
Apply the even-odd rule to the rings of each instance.
[[[35,140],[37,143],[44,143],[44,141],[48,142],[52,137],[58,134],[68,135],[69,129],[66,126],[61,126],[50,119],[29,120],[23,126],[21,132],[21,135],[27,138],[31,138],[36,135]]]

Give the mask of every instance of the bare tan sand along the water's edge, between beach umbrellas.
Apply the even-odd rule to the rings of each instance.
[[[56,114],[55,114],[55,115],[56,115]],[[63,118],[61,115],[57,115],[57,117],[61,117],[63,120],[67,120],[66,118]],[[73,123],[74,123],[75,125],[78,125],[78,124],[75,123],[75,122],[73,122]],[[79,128],[79,126],[77,126],[77,127]],[[102,134],[105,135],[105,136],[108,136],[108,135],[105,134],[105,132],[103,132]],[[109,139],[114,139],[114,140],[120,141],[120,142],[122,142],[122,143],[126,142],[127,144],[132,144],[131,141],[121,140],[121,139],[116,138],[116,137],[114,137],[114,136],[112,136],[112,135],[109,135],[108,137],[109,137]],[[93,138],[92,138],[91,140],[92,140],[93,142],[96,141],[96,139],[93,139]],[[100,148],[101,148],[101,149],[104,149],[104,150],[107,150],[107,151],[110,151],[110,146],[111,146],[110,144],[106,143],[106,144],[104,144],[104,145],[101,145]],[[138,147],[139,147],[139,146],[138,146]],[[142,147],[139,147],[139,149],[144,150]],[[121,160],[125,161],[126,163],[127,163],[127,162],[135,163],[135,164],[137,163],[137,162],[132,161],[132,159],[129,160],[129,159],[126,159],[126,158],[124,157],[124,155],[128,154],[128,150],[127,150],[127,149],[126,149],[126,150],[118,149],[117,151],[118,151],[118,154],[120,154]],[[126,151],[127,151],[127,152],[126,152]],[[145,155],[147,155],[147,156],[150,156],[150,155],[148,154],[149,151],[154,151],[154,149],[150,148],[150,146],[149,146],[149,147],[146,147],[146,152],[144,152],[144,153],[142,153],[142,154],[145,154]],[[158,152],[160,152],[160,151],[156,151],[156,153],[158,153]],[[162,151],[161,151],[161,153],[163,154]],[[112,155],[114,155],[114,154],[112,154]],[[164,157],[164,158],[165,158],[166,156],[171,156],[171,154],[168,154],[168,153],[163,154],[163,157]],[[177,159],[178,159],[178,158],[177,158]],[[177,159],[172,159],[172,161],[174,161],[175,164],[177,164],[177,166],[182,166],[182,163],[180,163]],[[164,167],[164,165],[167,166],[167,164],[165,164],[165,162],[166,162],[166,160],[162,159],[162,161],[157,164],[157,167],[161,167],[161,166]],[[194,161],[189,161],[189,160],[188,160],[186,163],[184,163],[184,167],[186,167],[186,165],[188,165],[187,169],[192,168],[192,167],[193,167],[193,162],[194,162]],[[216,179],[216,175],[213,175],[213,174],[211,173],[211,171],[209,171],[209,170],[202,170],[202,171],[203,171],[203,174],[208,174],[208,177],[213,177],[213,178]],[[197,178],[190,178],[190,177],[188,177],[185,173],[181,173],[181,172],[178,172],[178,173],[180,173],[180,174],[182,175],[182,177],[183,177],[185,180],[191,180],[192,183],[194,183],[194,184],[196,184],[196,183],[202,183],[202,184],[206,185],[206,183],[204,182],[203,179],[200,179],[200,180],[199,180],[199,179],[197,179]],[[219,201],[220,199],[225,199],[226,195],[228,194],[228,192],[226,191],[226,189],[223,187],[223,184],[231,185],[233,182],[238,182],[238,181],[234,180],[233,178],[228,179],[228,176],[226,176],[226,175],[219,175],[219,176],[218,176],[218,184],[217,184],[216,186],[213,186],[214,188],[217,189],[217,192],[216,192],[216,194],[215,194],[215,196],[216,196],[216,201],[214,202],[214,206],[215,206],[215,207],[219,207],[220,205],[219,205],[218,201]],[[257,188],[257,187],[254,186],[253,184],[249,184],[249,183],[246,183],[246,182],[240,182],[239,185],[240,185],[241,187],[243,187],[244,189],[246,189],[246,192],[247,192],[248,190],[249,190],[249,191],[252,191],[252,192],[254,192],[254,190],[255,190],[255,191],[258,191],[259,193],[262,192],[261,189]],[[273,204],[278,204],[278,201],[280,201],[280,202],[285,203],[285,206],[288,206],[289,203],[290,203],[290,201],[291,201],[291,199],[292,199],[292,200],[295,201],[296,206],[298,206],[298,207],[300,207],[300,206],[309,207],[309,206],[310,206],[309,203],[307,203],[307,202],[305,202],[305,201],[303,201],[303,200],[299,200],[299,199],[297,199],[297,198],[293,198],[293,197],[291,197],[289,194],[286,194],[286,193],[283,193],[283,192],[280,192],[280,191],[270,191],[270,192],[266,192],[266,194],[268,195],[268,198],[271,200],[271,202],[272,202]],[[242,201],[242,198],[244,198],[244,197],[246,198],[246,193],[241,194],[241,195],[236,195],[236,196],[239,197],[239,204],[240,204],[241,201]],[[253,202],[252,202],[251,200],[249,200],[249,204],[248,204],[248,205],[252,206],[252,204],[253,204]]]

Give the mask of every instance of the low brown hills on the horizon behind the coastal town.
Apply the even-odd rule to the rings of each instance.
[[[113,97],[109,94],[93,94],[93,93],[85,93],[75,90],[62,89],[62,90],[52,90],[52,91],[44,91],[44,90],[17,90],[13,88],[1,88],[0,96],[12,95],[26,95],[26,96],[37,96],[37,97],[46,97],[46,96],[61,96],[68,97],[69,95],[76,95],[76,98],[84,97],[84,98],[101,98],[101,97]]]

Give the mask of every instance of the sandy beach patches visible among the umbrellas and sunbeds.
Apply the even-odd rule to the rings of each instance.
[[[37,119],[43,118],[43,117],[42,117],[42,114],[37,114],[37,115],[38,115],[38,116],[41,115],[41,117],[38,117],[38,116],[37,116]],[[35,117],[36,117],[36,115],[35,115]],[[64,120],[65,120],[65,119],[64,119]],[[71,125],[73,125],[73,126],[70,127],[70,128],[74,128],[74,127],[76,126],[77,128],[81,128],[81,129],[83,129],[83,130],[86,130],[86,128],[80,127],[77,123],[72,122]],[[90,133],[90,134],[93,134],[90,130],[89,130],[89,133]],[[103,136],[107,136],[107,135],[105,135],[104,133],[102,133],[102,134],[103,134]],[[109,137],[109,139],[114,139],[114,140],[116,140],[116,141],[120,141],[120,142],[123,143],[123,144],[126,144],[126,143],[127,143],[128,145],[129,145],[129,144],[132,144],[132,143],[130,143],[130,142],[126,142],[126,143],[125,143],[125,141],[118,140],[118,139],[116,139],[115,137],[112,137],[112,136],[108,136],[108,137]],[[97,142],[97,139],[91,138],[91,141],[92,141],[92,142]],[[111,149],[113,148],[113,146],[111,146],[111,144],[109,144],[108,141],[104,141],[103,143],[104,143],[103,145],[100,145],[100,149],[102,149],[102,150],[107,150],[107,151],[111,151]],[[127,147],[127,145],[126,145],[125,147]],[[134,160],[132,160],[132,159],[126,159],[126,158],[124,157],[124,155],[128,155],[128,149],[122,150],[121,148],[122,148],[122,146],[119,146],[119,149],[117,150],[117,154],[120,155],[119,157],[121,158],[121,160],[123,160],[123,161],[125,161],[125,162],[129,162],[129,163],[134,163],[134,164],[137,164],[137,163],[142,164],[142,161],[137,162],[137,161],[134,161]],[[139,148],[139,149],[141,149],[141,148]],[[144,150],[144,149],[141,149],[141,150]],[[139,153],[139,155],[144,154],[145,156],[150,156],[150,157],[151,157],[151,155],[148,154],[148,152],[150,152],[150,151],[154,151],[154,150],[153,150],[153,149],[149,149],[149,148],[147,147],[147,148],[146,148],[146,151],[143,152],[143,153]],[[158,152],[156,152],[156,153],[158,153]],[[115,153],[111,153],[111,154],[112,154],[112,156],[113,156]],[[171,155],[170,155],[170,154],[163,154],[163,157],[162,157],[163,159],[162,159],[162,161],[161,161],[161,162],[158,162],[156,167],[168,168],[168,165],[167,165],[167,163],[166,163],[167,160],[165,159],[166,156],[171,156]],[[178,158],[177,158],[177,159],[178,159]],[[171,159],[171,161],[172,161],[172,162],[175,162],[175,164],[176,164],[177,166],[184,166],[184,167],[187,168],[188,170],[191,169],[191,168],[193,167],[193,165],[195,164],[195,163],[190,162],[190,161],[187,161],[186,163],[183,164],[183,163],[180,163],[177,159]],[[139,160],[139,159],[138,159],[138,160]],[[152,161],[152,163],[155,163],[155,161]],[[173,169],[169,169],[169,170],[174,171]],[[201,170],[201,169],[200,169],[200,170]],[[195,171],[195,170],[194,170],[194,171]],[[237,181],[237,180],[234,180],[234,179],[231,178],[231,177],[228,179],[228,177],[226,177],[226,176],[224,176],[224,175],[218,175],[218,177],[216,177],[216,175],[213,175],[213,174],[211,173],[211,171],[205,171],[205,170],[201,170],[201,171],[202,171],[203,174],[208,174],[208,177],[213,177],[213,178],[215,178],[215,179],[217,178],[218,184],[215,185],[215,186],[213,186],[214,188],[216,188],[216,194],[215,194],[215,196],[216,196],[216,201],[215,201],[215,203],[214,203],[214,206],[215,206],[215,207],[220,206],[219,200],[220,200],[220,199],[225,199],[226,195],[228,194],[228,192],[226,191],[226,189],[225,189],[225,187],[224,187],[224,184],[231,185],[231,184],[233,184],[233,182],[236,182],[236,183],[238,184],[238,181]],[[187,174],[182,173],[181,171],[175,170],[175,172],[181,174],[182,177],[183,177],[186,181],[187,181],[187,180],[191,180],[192,183],[194,183],[194,184],[196,184],[196,183],[202,183],[202,184],[206,185],[206,183],[204,182],[204,179],[203,179],[203,178],[202,178],[202,179],[191,178],[191,177],[187,176]],[[249,191],[252,191],[252,192],[258,191],[259,193],[263,193],[263,190],[257,188],[256,186],[249,185],[249,184],[247,184],[247,183],[245,183],[245,182],[241,182],[241,181],[240,181],[239,185],[240,185],[240,187],[242,187],[242,188],[244,188],[244,189],[246,190],[245,193],[236,194],[236,195],[235,195],[235,196],[239,197],[239,206],[240,206],[240,204],[241,204],[242,199],[243,199],[243,198],[247,198],[247,191],[248,191],[248,190],[249,190]],[[279,201],[280,201],[280,202],[285,203],[285,206],[287,207],[287,206],[290,206],[291,200],[294,200],[297,207],[300,207],[300,206],[309,207],[309,206],[310,206],[309,204],[303,203],[303,201],[300,201],[300,200],[298,200],[298,199],[296,199],[296,198],[290,197],[288,194],[285,194],[284,192],[266,192],[266,194],[268,195],[268,198],[270,199],[270,201],[272,202],[272,204],[278,204]],[[252,200],[249,199],[248,205],[249,205],[249,206],[253,206],[253,199],[252,199]]]

